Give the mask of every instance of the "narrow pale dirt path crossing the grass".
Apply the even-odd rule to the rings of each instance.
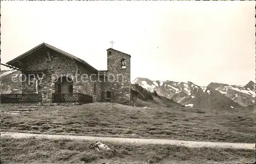
[[[168,144],[179,145],[190,148],[195,147],[217,147],[217,148],[234,148],[234,149],[254,149],[255,144],[247,143],[219,143],[219,142],[197,142],[190,140],[172,140],[172,139],[144,139],[144,138],[117,138],[117,137],[94,137],[94,136],[79,136],[79,135],[56,135],[56,134],[32,134],[32,133],[14,133],[14,132],[1,132],[3,137],[36,137],[36,138],[67,138],[67,139],[86,139],[86,140],[101,140],[109,142],[121,143],[138,143],[138,144]]]

